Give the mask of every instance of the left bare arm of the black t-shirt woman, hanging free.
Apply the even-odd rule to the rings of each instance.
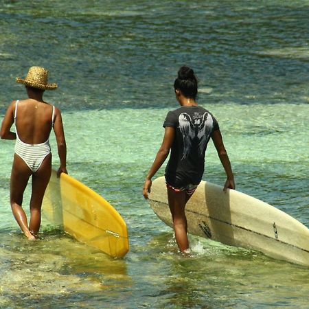
[[[150,192],[151,187],[151,179],[155,176],[156,172],[161,168],[161,165],[164,163],[165,159],[168,157],[170,153],[170,148],[174,142],[175,129],[167,126],[165,127],[164,137],[159,148],[157,155],[155,157],[155,161],[152,163],[152,166],[146,176],[144,187],[143,187],[143,195],[144,198],[148,198],[148,193]]]

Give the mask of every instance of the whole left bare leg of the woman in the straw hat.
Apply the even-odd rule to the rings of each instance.
[[[11,208],[15,220],[19,224],[19,227],[21,227],[21,230],[25,236],[30,240],[34,240],[35,237],[28,228],[27,216],[21,207],[23,203],[23,192],[25,192],[25,187],[27,186],[31,174],[32,172],[30,168],[28,168],[23,159],[17,155],[14,155],[10,181]]]

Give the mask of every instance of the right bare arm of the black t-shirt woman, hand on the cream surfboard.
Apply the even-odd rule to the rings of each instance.
[[[229,161],[229,156],[227,155],[227,150],[225,150],[225,145],[223,144],[222,135],[220,130],[215,130],[211,135],[211,139],[214,141],[214,146],[218,152],[218,157],[225,169],[227,174],[227,181],[225,181],[224,191],[227,191],[227,188],[235,189],[234,176],[231,169],[231,162]]]

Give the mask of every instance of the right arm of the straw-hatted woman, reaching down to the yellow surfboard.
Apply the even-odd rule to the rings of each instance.
[[[65,131],[63,129],[62,117],[58,108],[55,110],[54,132],[58,146],[58,156],[60,159],[60,168],[57,172],[57,176],[59,177],[62,172],[67,174],[67,144],[65,142]]]

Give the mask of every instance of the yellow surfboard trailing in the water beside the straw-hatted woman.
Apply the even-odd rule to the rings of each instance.
[[[126,222],[102,196],[67,174],[52,170],[42,215],[76,240],[122,258],[129,249]]]

